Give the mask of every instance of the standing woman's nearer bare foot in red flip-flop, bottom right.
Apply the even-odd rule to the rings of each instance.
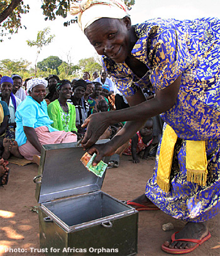
[[[201,240],[206,237],[209,233],[206,222],[194,223],[188,222],[184,228],[175,234],[175,239],[197,239]],[[165,247],[168,248],[179,248],[179,249],[188,249],[195,246],[196,243],[193,242],[185,242],[185,241],[173,241],[169,240],[163,243]]]

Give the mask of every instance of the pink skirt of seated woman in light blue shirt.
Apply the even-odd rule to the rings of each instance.
[[[77,142],[77,135],[71,131],[50,132],[47,126],[37,127],[35,131],[41,145]],[[18,150],[28,160],[33,160],[33,155],[40,155],[40,152],[28,140],[25,144],[18,147]]]

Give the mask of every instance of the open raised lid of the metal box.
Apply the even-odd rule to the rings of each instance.
[[[106,172],[101,178],[89,172],[80,161],[84,153],[82,147],[77,147],[77,142],[43,145],[38,176],[34,179],[38,203],[101,189]],[[109,157],[102,160],[107,164]]]

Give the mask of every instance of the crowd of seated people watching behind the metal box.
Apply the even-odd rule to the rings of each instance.
[[[74,77],[70,82],[52,74],[46,79],[28,78],[24,83],[18,74],[1,77],[0,156],[33,160],[44,144],[80,140],[86,131],[82,124],[90,114],[118,109],[117,89],[106,70],[101,70],[100,76],[96,71],[92,77],[90,81],[91,75],[84,72],[82,79]]]

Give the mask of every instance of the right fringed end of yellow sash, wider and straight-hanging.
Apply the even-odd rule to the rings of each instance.
[[[195,182],[200,186],[206,186],[206,142],[195,142],[194,140],[187,140],[185,161],[187,169],[187,181]]]

